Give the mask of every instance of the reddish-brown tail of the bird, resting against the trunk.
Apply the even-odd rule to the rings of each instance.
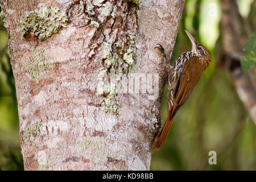
[[[166,122],[164,123],[163,128],[161,129],[159,134],[156,136],[156,141],[153,149],[159,149],[160,147],[162,147],[164,141],[166,140],[167,135],[171,129],[172,121],[174,120],[174,117],[172,115],[173,115],[172,111],[170,110],[168,112],[168,117],[166,119]]]

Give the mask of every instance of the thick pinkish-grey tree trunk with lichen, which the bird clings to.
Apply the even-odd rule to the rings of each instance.
[[[26,170],[148,170],[184,1],[7,1]],[[53,16],[59,19],[52,19]],[[98,75],[152,77],[159,97],[98,90]],[[111,79],[110,79],[111,81]],[[158,87],[159,84],[159,87]],[[129,85],[130,86],[130,85]],[[152,94],[151,94],[152,95]]]

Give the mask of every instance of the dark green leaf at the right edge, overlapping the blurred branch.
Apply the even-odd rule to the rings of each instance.
[[[251,38],[245,43],[243,48],[241,68],[247,73],[256,63],[256,32],[253,32]]]

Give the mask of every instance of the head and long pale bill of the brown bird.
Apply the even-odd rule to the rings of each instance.
[[[210,64],[210,62],[212,61],[212,54],[210,53],[209,49],[202,44],[197,43],[188,31],[185,30],[185,33],[188,35],[188,38],[192,43],[191,52],[195,53],[200,58],[200,60],[206,61],[207,64]]]

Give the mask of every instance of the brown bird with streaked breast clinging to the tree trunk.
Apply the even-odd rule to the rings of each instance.
[[[163,128],[156,136],[156,141],[153,148],[159,149],[162,147],[167,138],[177,110],[187,101],[193,88],[203,71],[209,66],[212,61],[210,51],[203,45],[196,42],[188,31],[185,31],[192,43],[192,51],[184,52],[177,57],[174,64],[170,65],[170,61],[164,52],[164,48],[160,45],[160,51],[166,59],[166,69],[168,72],[168,95],[167,95],[167,110],[168,117]]]

